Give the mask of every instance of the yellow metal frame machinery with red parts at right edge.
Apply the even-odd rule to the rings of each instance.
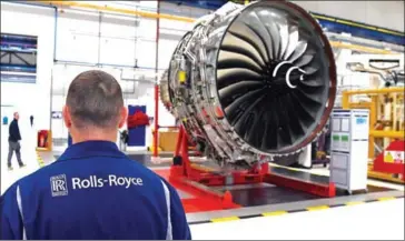
[[[401,160],[396,152],[404,155],[404,87],[343,91],[343,109],[369,110],[369,178],[404,183],[404,159],[393,161]],[[395,157],[385,158],[386,152]]]

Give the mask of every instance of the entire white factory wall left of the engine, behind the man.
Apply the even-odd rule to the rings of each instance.
[[[147,3],[147,4],[146,4]],[[156,9],[156,4],[144,2],[144,7]],[[156,64],[156,20],[109,13],[63,10],[58,12],[56,59],[71,62],[109,63],[117,68],[103,68],[120,81],[121,66],[147,68],[142,74],[154,80]],[[50,118],[51,111],[61,111],[70,81],[81,71],[95,67],[71,64],[53,66],[53,9],[31,6],[1,3],[1,31],[17,34],[38,36],[38,80],[36,84],[1,82],[1,103],[13,106],[21,118],[34,116],[38,129],[52,125],[53,137],[67,138],[67,130],[59,119]],[[165,24],[165,23],[164,23]],[[176,24],[176,23],[175,23]],[[101,38],[99,38],[99,33]],[[165,34],[171,39],[165,39]],[[164,30],[160,39],[159,68],[168,67],[169,58],[182,32]],[[172,39],[175,38],[175,40]],[[99,47],[100,44],[100,47]],[[132,70],[134,72],[134,70]],[[138,71],[135,71],[138,72]],[[140,72],[140,71],[139,71]],[[128,74],[127,74],[128,76]],[[52,79],[52,107],[50,90]],[[122,89],[132,89],[134,82],[120,81]],[[147,114],[155,116],[154,82],[137,84],[135,93],[126,93],[126,104],[146,104]],[[159,104],[159,124],[172,125],[174,117]],[[10,108],[2,112],[12,113]],[[50,122],[51,120],[51,122]],[[151,142],[151,131],[147,130],[147,143]]]

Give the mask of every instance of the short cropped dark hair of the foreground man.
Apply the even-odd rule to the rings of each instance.
[[[85,71],[69,86],[66,104],[76,128],[115,128],[124,107],[118,81],[100,70]]]

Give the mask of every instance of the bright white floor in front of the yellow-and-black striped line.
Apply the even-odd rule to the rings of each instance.
[[[195,240],[404,240],[404,199],[190,229]]]

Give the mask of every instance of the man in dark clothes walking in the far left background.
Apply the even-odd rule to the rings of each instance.
[[[24,167],[24,164],[21,161],[21,134],[20,134],[20,128],[18,127],[18,120],[20,119],[20,114],[18,112],[14,112],[14,119],[11,121],[9,125],[9,155],[7,158],[7,167],[9,170],[12,170],[11,159],[13,152],[16,152],[17,161],[20,168]]]

